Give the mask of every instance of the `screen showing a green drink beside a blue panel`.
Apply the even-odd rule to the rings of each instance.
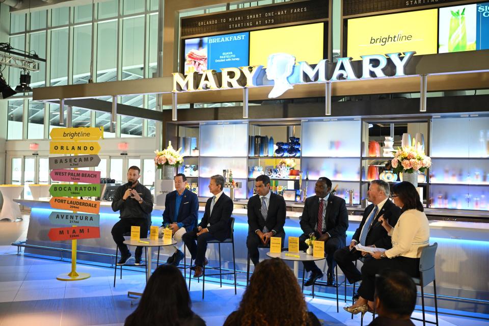
[[[440,8],[438,52],[489,49],[489,2]]]

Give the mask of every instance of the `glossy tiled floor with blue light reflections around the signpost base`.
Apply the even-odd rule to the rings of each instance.
[[[142,291],[145,276],[138,271],[124,271],[123,279],[113,287],[114,270],[79,264],[77,271],[90,273],[87,280],[63,282],[56,280],[70,270],[70,263],[17,256],[10,242],[25,238],[28,216],[16,223],[0,222],[0,326],[11,325],[123,325],[135,305],[127,291]],[[243,289],[234,295],[232,286],[206,282],[205,300],[202,285],[192,282],[193,310],[207,325],[220,326],[226,316],[236,309]],[[306,298],[309,310],[325,325],[359,325],[360,317],[350,318],[343,311],[336,312],[336,301]],[[137,304],[137,301],[135,301]],[[457,313],[457,312],[452,312]],[[421,314],[416,312],[415,315]],[[433,316],[430,316],[433,317]],[[366,315],[366,322],[371,320]],[[421,325],[421,322],[416,322]],[[440,325],[489,326],[489,321],[440,315]]]

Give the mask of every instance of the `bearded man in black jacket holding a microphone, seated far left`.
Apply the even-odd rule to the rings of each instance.
[[[117,265],[124,265],[131,257],[131,253],[124,244],[123,234],[131,231],[131,226],[140,227],[140,237],[148,237],[148,229],[151,225],[151,212],[153,211],[153,199],[148,188],[138,182],[141,170],[132,166],[127,171],[127,183],[116,189],[112,210],[120,211],[120,221],[112,228],[112,237],[121,252],[121,259]],[[134,264],[141,265],[143,260],[143,247],[135,250]]]

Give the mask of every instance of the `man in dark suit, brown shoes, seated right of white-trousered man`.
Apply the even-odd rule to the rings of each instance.
[[[209,190],[214,196],[207,200],[204,217],[199,226],[183,235],[183,242],[192,254],[192,259],[195,259],[196,278],[204,274],[203,266],[207,265],[207,241],[224,241],[230,236],[233,201],[223,193],[224,182],[222,175],[210,177]]]

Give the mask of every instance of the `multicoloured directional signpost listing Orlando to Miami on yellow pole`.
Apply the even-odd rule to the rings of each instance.
[[[52,140],[49,143],[50,154],[75,155],[49,158],[51,180],[74,183],[53,184],[49,188],[49,193],[53,196],[49,201],[51,207],[71,211],[53,211],[49,215],[52,224],[65,226],[49,230],[49,239],[71,240],[71,271],[58,275],[57,279],[85,280],[90,277],[90,274],[76,271],[76,240],[100,237],[100,215],[98,215],[100,202],[73,197],[100,197],[100,172],[81,171],[78,168],[97,167],[100,163],[100,157],[97,155],[100,145],[96,141],[102,137],[103,129],[53,128],[49,135]],[[70,168],[74,170],[66,170]],[[78,184],[78,182],[88,184]]]

